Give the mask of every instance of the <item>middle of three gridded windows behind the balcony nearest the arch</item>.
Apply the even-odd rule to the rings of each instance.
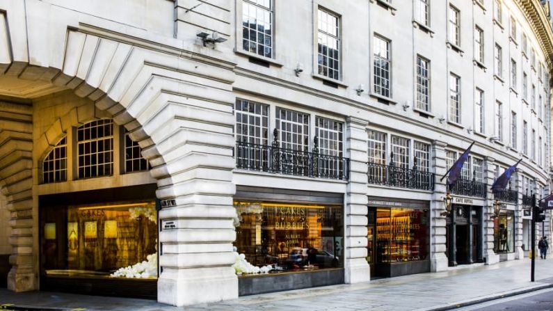
[[[287,109],[276,109],[276,128],[280,131],[280,147],[307,151],[309,146],[309,115]]]

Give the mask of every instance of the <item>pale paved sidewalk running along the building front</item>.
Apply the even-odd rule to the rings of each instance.
[[[233,301],[176,308],[155,301],[49,292],[13,293],[0,289],[0,305],[57,310],[448,310],[492,298],[553,287],[553,259],[536,260],[536,282],[530,280],[530,260],[492,266],[458,267],[374,280],[246,296]],[[1,310],[1,308],[0,308]]]

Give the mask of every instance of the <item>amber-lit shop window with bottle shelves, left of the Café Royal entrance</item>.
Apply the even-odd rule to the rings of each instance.
[[[391,208],[376,209],[376,226],[369,228],[376,254],[369,241],[369,257],[376,255],[376,264],[426,260],[428,256],[428,210]]]

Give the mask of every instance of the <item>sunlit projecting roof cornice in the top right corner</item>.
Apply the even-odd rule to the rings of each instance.
[[[546,54],[549,72],[553,70],[553,30],[550,20],[539,0],[515,0],[522,13],[528,19],[532,31],[536,34],[540,47]]]

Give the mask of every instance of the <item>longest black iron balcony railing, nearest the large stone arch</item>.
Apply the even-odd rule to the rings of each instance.
[[[314,151],[318,148],[314,147]],[[237,168],[305,177],[348,180],[349,159],[237,141]]]

